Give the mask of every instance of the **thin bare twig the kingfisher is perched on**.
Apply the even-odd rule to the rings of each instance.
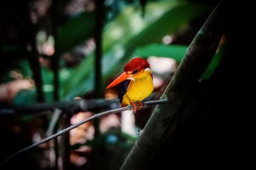
[[[166,104],[167,102],[168,102],[168,99],[163,98],[161,100],[143,102],[143,106],[156,105],[156,104]],[[70,127],[65,128],[65,129],[61,130],[60,132],[43,139],[39,143],[31,144],[30,146],[28,146],[26,148],[23,148],[23,149],[17,151],[16,153],[13,153],[13,155],[10,155],[10,157],[6,158],[3,162],[1,162],[0,167],[2,167],[6,162],[11,160],[13,157],[16,157],[20,153],[31,150],[32,148],[35,148],[36,146],[39,146],[40,144],[47,143],[48,141],[51,141],[52,139],[55,139],[56,137],[58,137],[60,135],[66,134],[70,130],[72,130],[76,127],[79,127],[80,125],[83,125],[84,123],[87,123],[88,121],[92,121],[95,118],[100,118],[100,116],[108,115],[108,114],[111,114],[111,113],[122,112],[122,111],[129,111],[131,109],[133,109],[133,106],[132,105],[127,105],[126,107],[121,107],[121,108],[118,108],[118,109],[112,109],[112,110],[109,110],[109,111],[104,111],[104,112],[100,112],[98,114],[94,114],[90,118],[87,118],[86,120],[80,121],[79,123],[76,123],[75,125],[71,125]]]

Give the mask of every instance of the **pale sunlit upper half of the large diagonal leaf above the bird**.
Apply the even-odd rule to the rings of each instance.
[[[141,17],[141,10],[134,6],[127,6],[115,20],[104,28],[103,50],[109,52],[118,46],[124,46],[133,36],[138,35],[148,24],[155,22],[163,13],[173,6],[177,1],[148,3],[145,17]],[[115,47],[117,45],[117,47]]]

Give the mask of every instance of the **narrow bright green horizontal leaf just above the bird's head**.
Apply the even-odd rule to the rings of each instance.
[[[180,62],[186,54],[187,49],[188,46],[186,45],[164,45],[152,43],[150,45],[146,45],[145,47],[136,49],[134,54],[136,56],[145,56],[146,58],[148,56],[173,58]]]

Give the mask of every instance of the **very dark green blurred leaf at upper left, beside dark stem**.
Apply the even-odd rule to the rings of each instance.
[[[56,37],[56,49],[65,52],[92,37],[95,27],[94,13],[79,13],[60,28]]]

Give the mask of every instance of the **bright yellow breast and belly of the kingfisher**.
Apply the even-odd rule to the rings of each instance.
[[[129,105],[130,102],[140,102],[148,97],[154,89],[152,76],[149,72],[143,73],[140,77],[134,77],[134,79],[124,95],[122,105]]]

